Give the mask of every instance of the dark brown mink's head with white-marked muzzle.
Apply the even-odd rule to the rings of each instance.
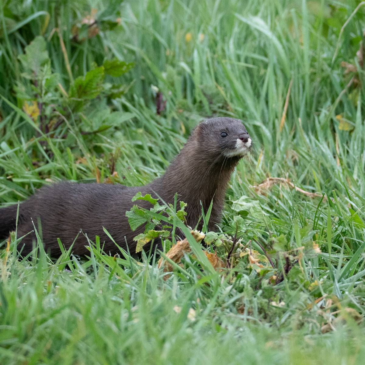
[[[196,127],[200,151],[222,158],[243,157],[250,151],[251,138],[239,119],[211,118]]]

